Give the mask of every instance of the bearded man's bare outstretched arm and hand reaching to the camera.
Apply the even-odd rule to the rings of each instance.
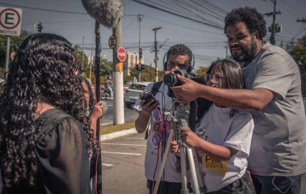
[[[172,87],[172,90],[177,100],[182,104],[202,97],[234,109],[261,111],[274,97],[272,91],[264,88],[254,90],[220,89],[199,84],[180,75],[177,75],[177,78],[185,84]]]

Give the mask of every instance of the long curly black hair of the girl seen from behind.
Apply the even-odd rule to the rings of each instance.
[[[39,102],[72,115],[85,132],[88,153],[91,145],[96,149],[74,74],[77,68],[71,43],[59,35],[37,33],[21,43],[0,96],[0,167],[6,187],[37,182],[39,129],[34,127],[34,115]]]

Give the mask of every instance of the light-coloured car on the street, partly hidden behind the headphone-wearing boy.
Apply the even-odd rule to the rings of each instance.
[[[126,107],[130,108],[132,104],[135,104],[139,98],[140,93],[145,89],[145,87],[152,82],[136,82],[132,83],[124,94],[124,104]]]

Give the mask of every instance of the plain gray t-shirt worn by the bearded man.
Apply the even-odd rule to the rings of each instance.
[[[255,128],[248,170],[262,176],[305,173],[306,119],[296,62],[285,50],[267,42],[243,73],[247,89],[276,93],[262,111],[251,112]]]

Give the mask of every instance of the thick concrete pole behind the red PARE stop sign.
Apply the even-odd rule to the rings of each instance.
[[[122,20],[119,20],[113,28],[113,35],[117,37],[117,45],[113,49],[113,70],[114,70],[114,125],[124,123],[124,104],[123,104],[123,63],[117,57],[117,50],[122,46]]]

